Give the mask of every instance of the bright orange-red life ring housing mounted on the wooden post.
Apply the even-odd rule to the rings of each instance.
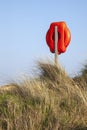
[[[64,53],[71,40],[70,31],[65,22],[54,22],[51,23],[49,30],[46,34],[46,42],[52,53],[55,52],[54,45],[54,27],[58,27],[58,53]]]

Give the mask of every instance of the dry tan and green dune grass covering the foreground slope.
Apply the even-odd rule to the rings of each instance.
[[[70,78],[39,62],[39,76],[0,88],[0,130],[87,130],[87,71]]]

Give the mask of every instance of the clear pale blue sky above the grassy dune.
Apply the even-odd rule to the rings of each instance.
[[[87,60],[87,0],[0,0],[1,84],[31,73],[40,59],[54,58],[45,40],[54,21],[70,29],[70,45],[58,60],[76,74]]]

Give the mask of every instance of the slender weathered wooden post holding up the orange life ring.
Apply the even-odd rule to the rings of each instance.
[[[54,27],[54,40],[55,40],[55,65],[58,65],[58,27]]]

